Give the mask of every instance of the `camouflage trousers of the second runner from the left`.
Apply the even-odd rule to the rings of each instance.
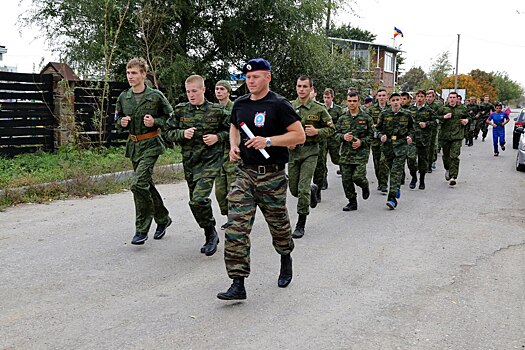
[[[203,176],[202,169],[193,169],[191,166],[184,165],[184,177],[188,183],[190,195],[188,204],[190,205],[193,217],[201,228],[215,226],[210,195],[216,173],[217,172],[213,173],[213,175],[210,173],[209,176]]]

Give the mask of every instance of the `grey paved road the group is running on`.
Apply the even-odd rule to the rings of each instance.
[[[8,209],[0,348],[523,349],[525,173],[510,127],[500,157],[490,137],[463,147],[455,188],[439,163],[425,191],[403,188],[395,211],[374,190],[342,212],[332,167],[286,289],[259,215],[245,302],[215,298],[230,284],[222,243],[199,253],[184,183],[159,186],[175,224],[142,247],[129,244],[129,192]],[[290,198],[293,223],[295,207]]]

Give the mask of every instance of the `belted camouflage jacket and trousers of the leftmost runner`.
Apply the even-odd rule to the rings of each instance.
[[[139,136],[164,128],[166,119],[173,109],[160,91],[146,87],[138,103],[132,89],[122,92],[117,99],[116,111],[117,130],[128,131],[130,135]],[[154,118],[154,126],[144,125],[146,114]],[[122,127],[121,124],[124,116],[131,117],[126,127]],[[168,209],[164,206],[152,179],[155,163],[164,151],[164,142],[160,135],[141,141],[133,141],[130,138],[126,143],[126,157],[131,159],[134,171],[131,192],[135,201],[137,232],[147,233],[153,219],[160,225],[167,224],[169,221]]]

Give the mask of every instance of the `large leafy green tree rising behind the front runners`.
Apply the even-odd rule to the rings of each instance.
[[[189,74],[203,75],[212,86],[254,57],[272,63],[274,84],[285,95],[293,93],[299,74],[319,67],[331,71],[340,64],[348,68],[341,76],[353,74],[342,56],[330,55],[324,36],[327,6],[335,11],[342,1],[128,0],[127,7],[112,0],[32,1],[24,23],[38,27],[81,75],[99,78],[107,67],[112,79],[123,80],[126,62],[143,56],[171,101],[184,96]]]

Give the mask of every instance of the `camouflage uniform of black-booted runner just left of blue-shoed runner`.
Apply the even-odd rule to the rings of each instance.
[[[361,188],[368,189],[366,178],[366,164],[370,156],[370,143],[374,138],[374,127],[372,118],[359,111],[356,116],[349,112],[342,115],[336,124],[336,140],[341,143],[341,175],[345,196],[349,202],[356,202],[357,194],[354,184]],[[346,133],[352,133],[354,138],[361,140],[361,146],[357,149],[352,148],[352,142],[344,140]]]

